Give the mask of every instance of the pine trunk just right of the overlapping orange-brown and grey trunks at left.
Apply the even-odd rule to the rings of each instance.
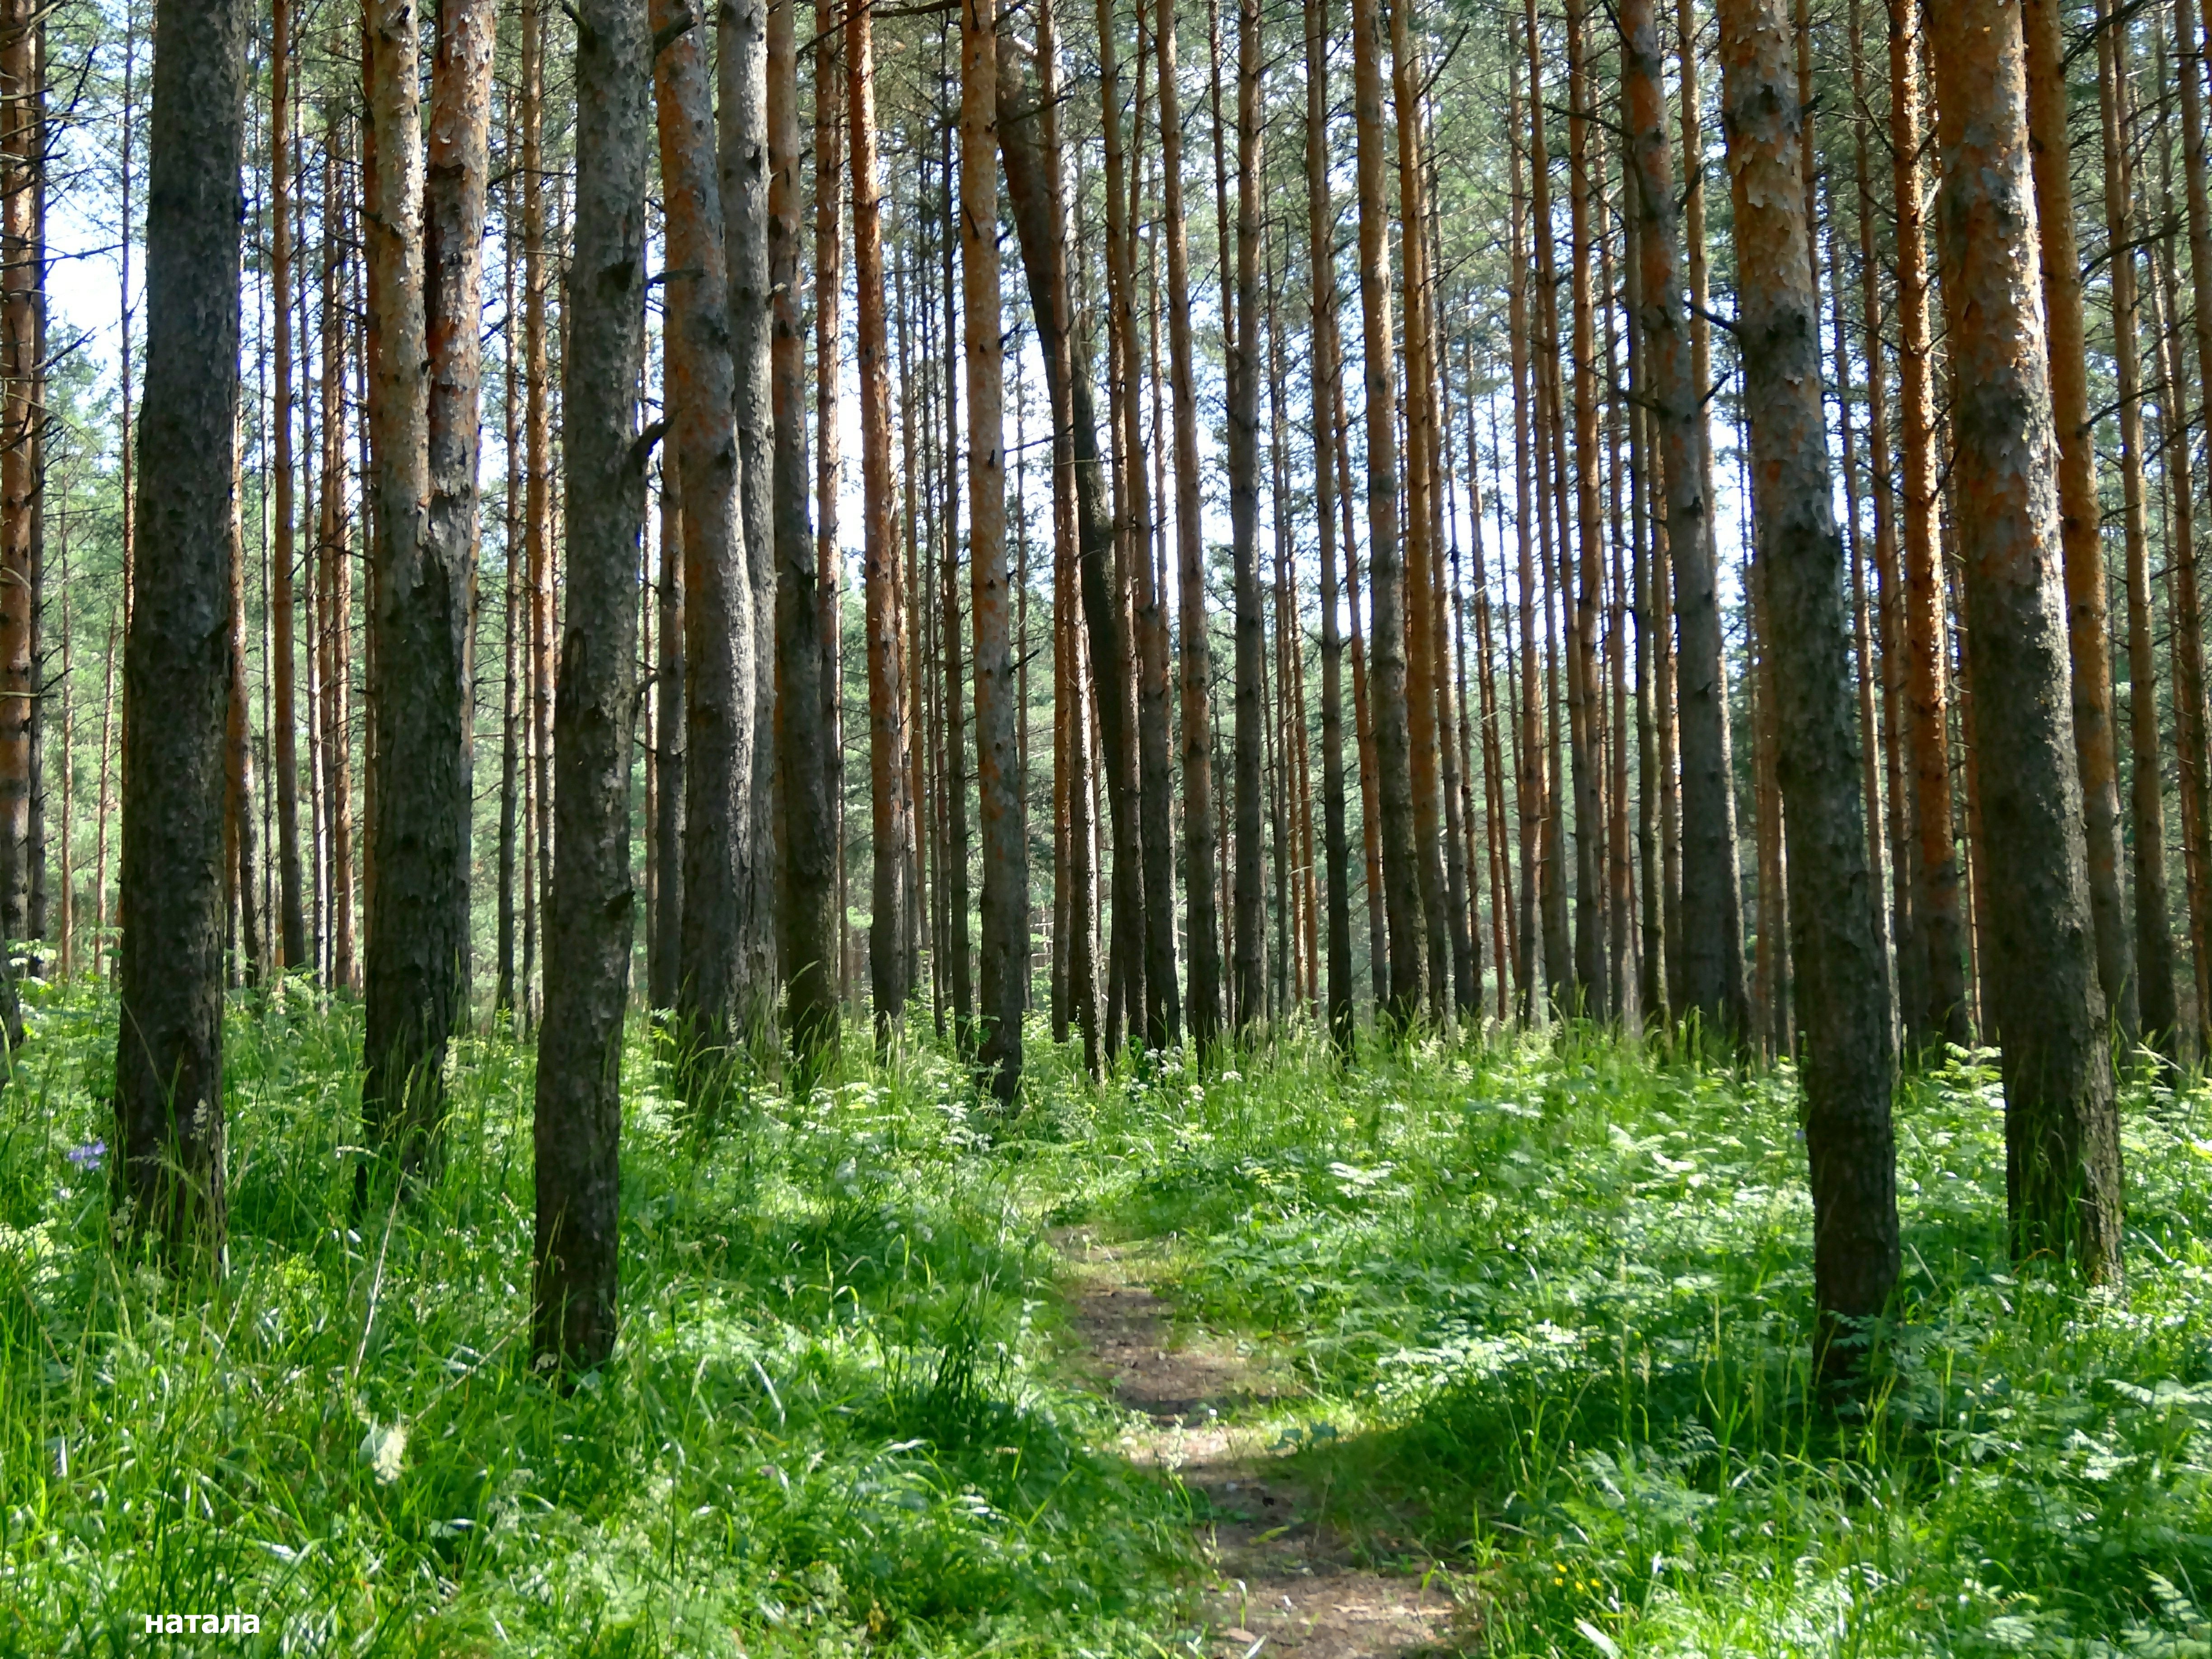
[[[805,334],[799,314],[799,44],[768,11],[768,281],[774,294],[776,770],[781,960],[801,1093],[836,1046],[836,801],[827,754],[821,575],[807,515]]]

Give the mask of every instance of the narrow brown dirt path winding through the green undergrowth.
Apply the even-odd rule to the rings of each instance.
[[[1212,1332],[1177,1329],[1152,1292],[1159,1256],[1104,1243],[1082,1228],[1055,1234],[1071,1279],[1077,1365],[1117,1405],[1144,1418],[1130,1458],[1172,1469],[1203,1495],[1210,1571],[1206,1615],[1217,1655],[1416,1659],[1462,1650],[1453,1599],[1422,1577],[1354,1566],[1329,1524],[1327,1491],[1294,1478],[1254,1418],[1294,1400],[1294,1380]]]

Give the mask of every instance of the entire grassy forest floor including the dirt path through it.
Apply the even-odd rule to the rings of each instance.
[[[1310,1033],[987,1113],[918,1040],[701,1144],[624,1062],[622,1312],[526,1332],[533,1053],[356,1212],[354,1009],[237,998],[230,1272],[106,1199],[115,1004],[0,1095],[0,1659],[2212,1655],[2212,1093],[2124,1095],[2128,1281],[2004,1259],[1986,1055],[1898,1093],[1905,1279],[1807,1374],[1787,1066]],[[257,1637],[148,1637],[241,1613]]]

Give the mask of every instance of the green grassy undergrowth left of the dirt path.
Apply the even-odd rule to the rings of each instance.
[[[706,1157],[626,1064],[624,1334],[526,1365],[526,1051],[469,1042],[422,1199],[349,1214],[358,1020],[232,1009],[230,1276],[133,1267],[115,1009],[44,998],[0,1126],[0,1652],[1150,1655],[1188,1506],[1037,1365],[1053,1256],[936,1055]],[[146,1613],[263,1632],[146,1637]]]

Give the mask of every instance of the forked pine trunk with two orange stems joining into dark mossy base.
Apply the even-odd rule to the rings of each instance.
[[[372,633],[376,810],[365,971],[372,1148],[405,1175],[438,1166],[445,1046],[465,1013],[469,945],[467,630],[476,449],[489,4],[449,4],[438,35],[425,197],[416,9],[369,11],[378,206],[369,215],[376,352]],[[429,243],[436,241],[436,257]],[[358,1181],[369,1170],[361,1166]]]

